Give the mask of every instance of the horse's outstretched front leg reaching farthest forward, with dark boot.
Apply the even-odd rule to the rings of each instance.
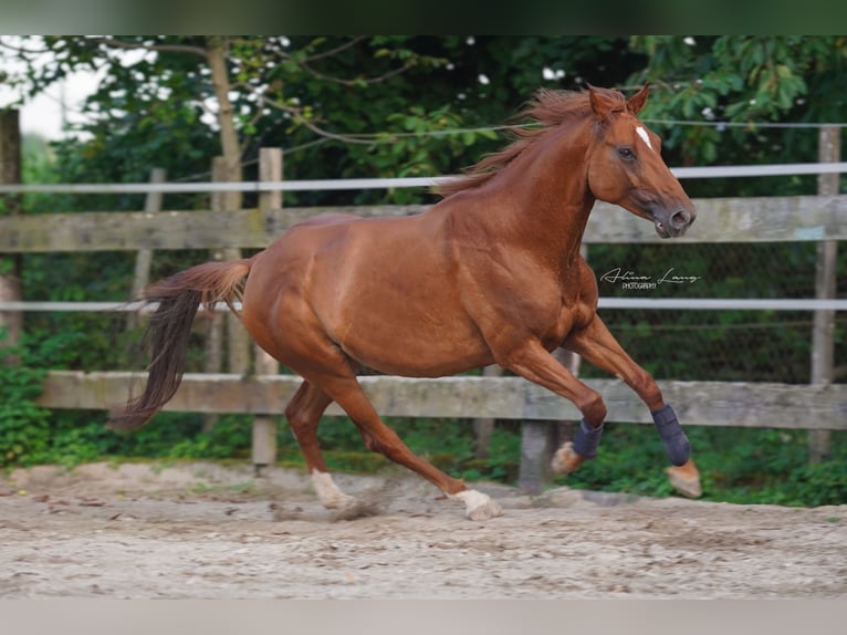
[[[652,376],[636,364],[620,346],[598,315],[585,327],[573,331],[564,346],[595,366],[623,379],[650,409],[656,428],[672,464],[668,468],[671,485],[681,493],[701,495],[700,475],[690,458],[690,445],[673,408],[665,403]],[[578,450],[577,450],[578,451]]]

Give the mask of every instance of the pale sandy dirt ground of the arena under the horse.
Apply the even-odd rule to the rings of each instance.
[[[92,464],[0,480],[0,597],[836,598],[847,506],[558,488],[485,522],[429,483],[337,475],[374,516],[337,519],[306,475]]]

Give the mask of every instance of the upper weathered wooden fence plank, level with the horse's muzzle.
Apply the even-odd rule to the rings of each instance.
[[[673,243],[847,240],[847,195],[696,199],[698,221]],[[227,211],[97,211],[0,216],[0,253],[264,249],[287,229],[324,212],[402,217],[410,206],[290,207]],[[598,202],[584,242],[661,243],[651,222]]]

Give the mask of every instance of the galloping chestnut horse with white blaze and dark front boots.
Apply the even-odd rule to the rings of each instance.
[[[147,384],[113,426],[140,426],[174,396],[198,304],[233,309],[241,296],[250,335],[304,379],[285,416],[327,508],[354,502],[333,482],[317,444],[321,415],[336,402],[368,449],[463,502],[469,518],[501,512],[402,444],[362,391],[362,366],[436,377],[499,364],[582,412],[554,468],[569,472],[593,458],[606,406],[551,355],[558,346],[626,382],[652,413],[671,464],[697,479],[673,409],[597,315],[595,275],[579,256],[596,199],[650,220],[663,238],[682,236],[694,220],[659,137],[637,117],[647,94],[647,86],[629,100],[596,87],[541,91],[524,113],[537,125],[442,186],[445,198],[423,214],[317,216],[252,258],[207,262],[153,284],[144,294],[159,305],[146,333]]]

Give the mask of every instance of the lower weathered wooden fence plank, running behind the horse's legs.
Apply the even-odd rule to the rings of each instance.
[[[48,408],[111,409],[140,392],[143,373],[52,371],[39,404]],[[383,416],[520,420],[578,420],[568,400],[521,377],[408,378],[363,376],[362,386]],[[166,410],[279,415],[300,387],[295,375],[187,373]],[[641,400],[617,379],[585,379],[608,407],[607,420],[650,424]],[[660,382],[684,425],[847,429],[847,385]],[[343,415],[337,405],[330,416]]]

